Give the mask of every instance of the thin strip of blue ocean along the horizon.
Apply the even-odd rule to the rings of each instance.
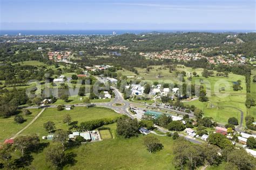
[[[21,35],[111,35],[113,32],[116,34],[125,33],[150,33],[150,32],[161,32],[161,33],[175,33],[175,32],[253,32],[254,30],[0,30],[0,35],[8,34],[9,36],[16,36],[19,33]]]

